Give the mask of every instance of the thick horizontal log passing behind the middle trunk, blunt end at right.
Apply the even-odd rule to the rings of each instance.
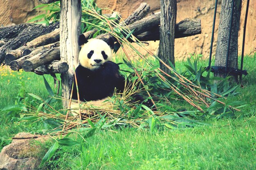
[[[160,26],[151,28],[149,31],[136,35],[140,41],[156,41],[159,40]],[[175,38],[189,37],[201,33],[201,20],[186,18],[175,26]]]

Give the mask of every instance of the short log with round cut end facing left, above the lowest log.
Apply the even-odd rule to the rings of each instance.
[[[54,47],[38,53],[37,55],[25,60],[22,63],[22,69],[24,71],[32,71],[35,68],[47,64],[53,60],[60,60],[60,48]]]

